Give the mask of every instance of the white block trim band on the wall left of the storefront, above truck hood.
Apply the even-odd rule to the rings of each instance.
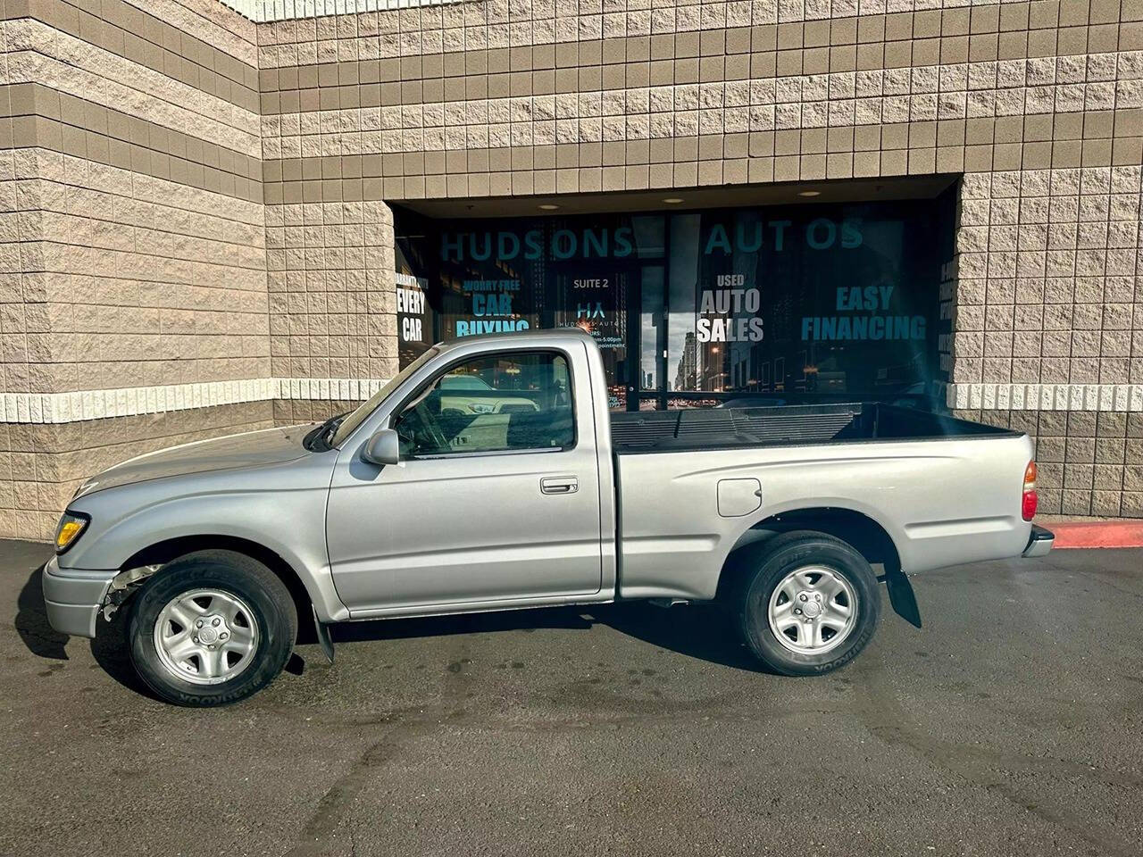
[[[361,401],[383,378],[246,378],[72,393],[0,393],[0,423],[63,424],[272,399]]]

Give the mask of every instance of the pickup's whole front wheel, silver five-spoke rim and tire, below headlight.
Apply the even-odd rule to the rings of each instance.
[[[131,663],[176,705],[245,699],[289,659],[297,611],[269,568],[231,551],[200,551],[160,569],[135,598]]]

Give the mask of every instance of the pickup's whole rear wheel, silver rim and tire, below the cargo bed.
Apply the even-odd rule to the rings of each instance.
[[[818,675],[849,663],[873,639],[881,593],[869,562],[824,532],[775,536],[738,594],[738,631],[783,675]]]

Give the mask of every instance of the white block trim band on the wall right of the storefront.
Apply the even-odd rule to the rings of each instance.
[[[949,384],[958,410],[1143,410],[1143,384]]]

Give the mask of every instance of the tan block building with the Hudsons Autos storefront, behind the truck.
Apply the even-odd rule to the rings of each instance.
[[[3,0],[0,536],[568,323],[613,407],[927,399],[1143,516],[1143,2],[378,6]]]

